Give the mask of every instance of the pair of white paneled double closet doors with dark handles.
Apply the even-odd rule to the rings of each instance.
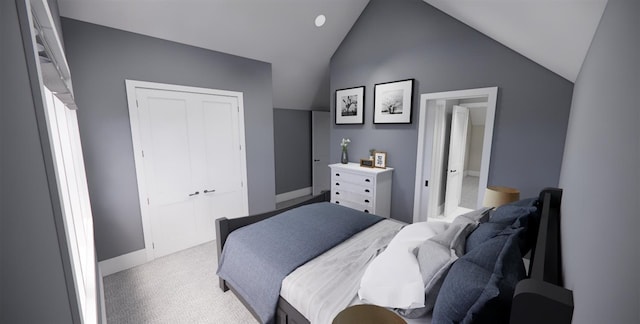
[[[215,239],[216,218],[247,214],[238,99],[148,88],[135,97],[153,257]]]

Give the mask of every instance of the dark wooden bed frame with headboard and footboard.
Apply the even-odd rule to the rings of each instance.
[[[284,211],[316,202],[330,201],[330,192],[324,192],[299,204],[240,218],[220,218],[216,220],[218,240],[218,260],[227,237],[234,230],[273,217]],[[560,203],[562,190],[547,188],[540,192],[541,213],[539,230],[531,251],[529,277],[516,286],[511,306],[511,320],[514,324],[561,324],[571,323],[573,316],[573,293],[562,287],[562,257],[560,253]],[[258,319],[255,311],[227,282],[220,279],[220,289],[231,289],[238,299]],[[259,320],[259,319],[258,319]],[[280,297],[276,311],[277,324],[308,324],[298,310]]]

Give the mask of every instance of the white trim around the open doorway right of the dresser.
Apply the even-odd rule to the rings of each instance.
[[[489,177],[489,162],[491,159],[491,143],[493,142],[493,123],[496,112],[496,102],[498,99],[498,87],[477,88],[468,90],[456,90],[426,93],[420,96],[420,122],[418,126],[418,147],[416,157],[416,180],[414,187],[414,199],[413,199],[413,221],[420,221],[421,208],[427,208],[423,206],[424,203],[429,204],[428,199],[422,199],[422,197],[428,197],[429,188],[424,186],[425,179],[431,177],[430,174],[424,174],[425,160],[430,161],[432,152],[430,150],[431,143],[427,141],[433,140],[434,120],[428,119],[429,108],[435,105],[430,104],[439,99],[465,99],[475,97],[487,97],[487,113],[485,117],[485,129],[484,129],[484,141],[482,149],[482,159],[480,164],[480,188],[487,187],[487,179]],[[425,149],[425,145],[429,148]],[[484,199],[484,190],[478,191],[478,205],[482,203]]]

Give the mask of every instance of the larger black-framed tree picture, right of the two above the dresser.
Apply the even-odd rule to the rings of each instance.
[[[412,102],[413,79],[376,84],[373,123],[410,124]]]

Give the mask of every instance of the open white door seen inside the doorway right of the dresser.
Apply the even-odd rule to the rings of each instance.
[[[445,190],[444,202],[445,216],[451,215],[460,205],[468,124],[469,108],[453,106],[451,137],[449,139],[447,189]]]

